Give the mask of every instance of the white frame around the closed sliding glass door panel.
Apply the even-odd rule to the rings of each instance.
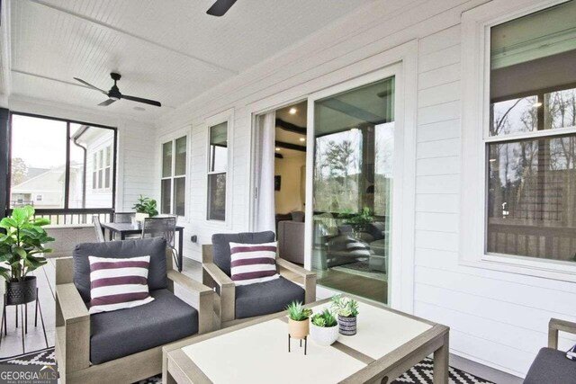
[[[404,62],[392,64],[391,66],[378,69],[364,76],[330,86],[319,92],[310,94],[308,97],[308,132],[307,132],[307,157],[306,157],[306,229],[304,237],[304,267],[311,270],[312,267],[312,246],[313,246],[313,174],[314,174],[314,103],[327,97],[354,90],[363,85],[370,85],[384,80],[388,77],[395,77],[394,94],[394,156],[393,164],[393,186],[392,186],[392,249],[388,262],[388,306],[400,308],[411,312],[413,308],[413,253],[414,253],[414,215],[415,215],[415,119],[406,116],[407,113],[415,112],[415,106],[407,106],[406,100],[415,100],[415,90],[410,89],[407,93],[406,78],[404,76]],[[410,71],[411,72],[411,71]],[[414,95],[411,95],[414,94]],[[410,99],[412,97],[412,99]],[[410,111],[411,110],[411,111]],[[410,129],[407,129],[409,128]],[[410,131],[407,135],[407,131]],[[413,161],[407,161],[413,160]],[[413,166],[411,164],[413,163]],[[408,166],[407,166],[408,165]],[[413,168],[413,169],[410,169]],[[411,220],[409,218],[412,218]],[[412,234],[406,237],[405,235]],[[412,257],[404,258],[402,255],[410,254]],[[410,260],[409,260],[410,259]],[[404,264],[404,265],[403,265]],[[410,272],[411,271],[411,272]],[[407,275],[408,274],[408,275]],[[408,278],[408,280],[404,280]],[[336,290],[326,287],[317,287],[319,298],[329,297]],[[409,297],[404,297],[409,296]],[[407,307],[408,306],[408,307]]]

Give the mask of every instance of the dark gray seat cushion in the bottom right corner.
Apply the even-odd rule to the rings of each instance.
[[[542,348],[532,362],[524,384],[560,384],[576,382],[576,362],[566,358],[566,353],[552,348]]]

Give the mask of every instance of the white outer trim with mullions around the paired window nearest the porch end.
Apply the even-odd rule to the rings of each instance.
[[[174,175],[170,175],[169,177],[164,177],[162,175],[162,161],[164,160],[163,158],[163,146],[164,144],[166,144],[167,142],[172,142],[172,151],[173,151],[173,156],[172,156],[172,170],[171,172],[174,173],[175,170],[175,140],[178,138],[183,138],[186,137],[186,172],[184,174],[179,174],[177,176]],[[159,204],[158,204],[158,211],[161,211],[162,208],[162,180],[167,180],[170,179],[172,180],[171,183],[171,196],[170,196],[170,212],[174,212],[174,179],[177,178],[181,178],[181,177],[185,177],[185,191],[184,191],[184,216],[180,216],[178,215],[178,219],[182,219],[184,220],[184,222],[189,222],[189,218],[190,218],[190,214],[189,214],[189,199],[188,199],[188,194],[190,192],[190,158],[192,156],[190,156],[190,150],[191,150],[191,139],[192,139],[192,126],[187,126],[183,129],[177,129],[175,131],[170,132],[169,134],[163,135],[160,138],[158,138],[158,142],[159,142],[159,147],[160,147],[160,153],[158,155],[159,159],[158,159],[158,164],[160,165],[160,169],[158,170],[158,179],[160,181],[159,184],[159,192],[158,192],[158,196],[159,196]]]

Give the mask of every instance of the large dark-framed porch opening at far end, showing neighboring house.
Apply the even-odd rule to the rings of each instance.
[[[13,113],[10,208],[113,209],[116,130]]]

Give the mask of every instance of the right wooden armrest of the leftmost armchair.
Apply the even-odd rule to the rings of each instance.
[[[206,287],[204,284],[174,270],[168,271],[167,277],[170,281],[192,294],[193,299],[198,303],[198,334],[211,332],[214,291],[210,287]]]

